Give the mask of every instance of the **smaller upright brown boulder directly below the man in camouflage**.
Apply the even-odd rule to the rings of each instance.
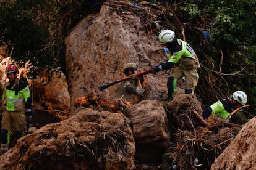
[[[143,100],[126,108],[125,112],[134,131],[135,160],[139,163],[160,163],[170,139],[163,103]]]

